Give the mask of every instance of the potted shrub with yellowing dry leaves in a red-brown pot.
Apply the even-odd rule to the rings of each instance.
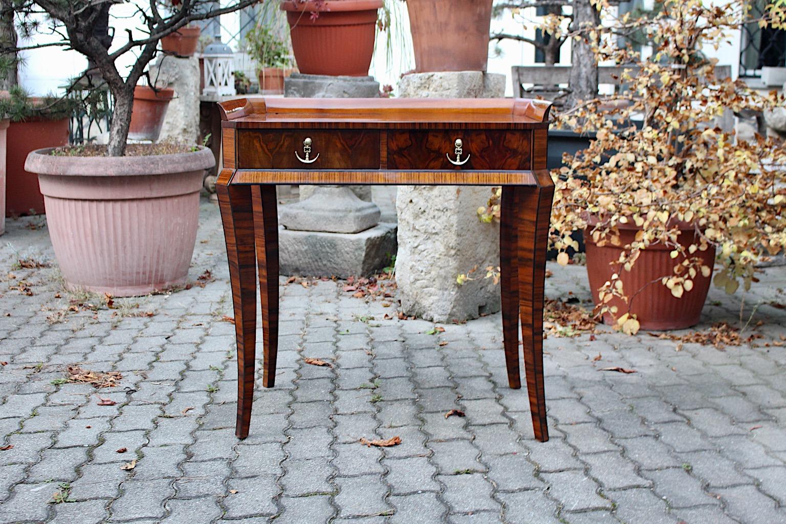
[[[567,263],[565,251],[576,247],[571,234],[583,231],[597,311],[626,332],[696,324],[714,265],[714,283],[732,293],[750,286],[760,258],[786,247],[783,143],[742,141],[715,121],[724,111],[761,111],[786,98],[717,78],[716,60],[700,52],[741,24],[783,24],[784,8],[750,20],[743,0],[722,8],[659,3],[651,19],[615,27],[644,27],[651,60],[596,47],[604,60],[637,62],[637,74],[624,75],[630,90],[560,115],[579,132],[594,131],[595,140],[559,171],[551,234],[557,261]]]

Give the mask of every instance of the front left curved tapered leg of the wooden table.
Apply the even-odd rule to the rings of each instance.
[[[252,191],[248,185],[230,185],[230,174],[219,176],[215,190],[224,224],[226,255],[230,262],[232,303],[237,337],[237,422],[238,438],[248,436],[254,401],[256,344],[256,257]]]

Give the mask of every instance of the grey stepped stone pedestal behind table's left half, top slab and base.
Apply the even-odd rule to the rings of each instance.
[[[372,77],[302,75],[285,79],[286,97],[378,97]],[[370,186],[301,185],[300,201],[279,207],[281,274],[365,277],[387,266],[396,226],[380,222]]]

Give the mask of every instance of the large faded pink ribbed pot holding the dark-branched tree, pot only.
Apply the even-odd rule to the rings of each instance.
[[[54,254],[68,288],[147,295],[183,284],[212,152],[52,156],[31,152]]]

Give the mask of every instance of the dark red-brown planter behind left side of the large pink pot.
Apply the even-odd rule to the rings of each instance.
[[[68,118],[32,118],[12,122],[6,135],[6,217],[44,212],[44,197],[35,174],[24,170],[28,153],[68,144]]]

